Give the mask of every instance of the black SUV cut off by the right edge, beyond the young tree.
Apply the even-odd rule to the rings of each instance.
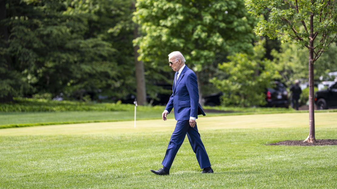
[[[317,91],[315,94],[315,104],[318,110],[337,107],[337,82],[327,89]]]

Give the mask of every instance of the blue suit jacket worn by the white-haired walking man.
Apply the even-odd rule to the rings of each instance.
[[[178,72],[176,72],[175,78]],[[165,110],[170,113],[174,108],[176,120],[189,120],[190,117],[198,118],[204,110],[199,104],[198,83],[195,73],[187,66],[181,71],[177,84],[173,82],[173,93],[168,100]]]

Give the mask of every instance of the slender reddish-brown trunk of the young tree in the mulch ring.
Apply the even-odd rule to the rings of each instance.
[[[314,116],[314,41],[313,41],[313,13],[310,15],[310,41],[309,41],[309,136],[303,142],[314,143],[315,116]]]

